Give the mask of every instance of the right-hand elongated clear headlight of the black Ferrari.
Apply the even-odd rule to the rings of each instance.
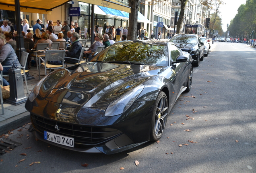
[[[144,85],[140,84],[111,103],[105,111],[105,117],[120,115],[125,112],[134,103],[143,89]]]

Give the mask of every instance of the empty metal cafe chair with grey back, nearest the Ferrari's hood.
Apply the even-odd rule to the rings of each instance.
[[[46,70],[64,68],[65,50],[45,50],[45,58],[39,57],[39,80],[40,80],[40,66],[44,67],[45,75]],[[62,61],[61,65],[48,64],[49,61]]]

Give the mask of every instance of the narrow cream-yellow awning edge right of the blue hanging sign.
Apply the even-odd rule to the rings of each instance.
[[[128,12],[128,13],[131,12],[131,8],[129,6],[126,6],[120,2],[117,2],[116,0],[79,0],[79,1],[85,2],[88,4],[103,6],[107,8],[113,8],[113,9]]]

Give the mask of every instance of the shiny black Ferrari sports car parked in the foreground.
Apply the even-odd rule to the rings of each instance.
[[[191,89],[193,63],[171,42],[116,42],[91,62],[55,70],[35,85],[25,104],[29,131],[85,153],[114,154],[158,141],[170,128],[175,101]]]

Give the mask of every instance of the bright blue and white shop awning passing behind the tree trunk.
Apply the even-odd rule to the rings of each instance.
[[[114,18],[121,18],[124,20],[129,19],[129,13],[116,10],[116,9],[111,9],[103,6],[98,6],[103,12],[105,12],[106,16],[109,17],[114,17]],[[96,12],[97,13],[97,12]],[[143,22],[143,23],[151,23],[145,16],[143,16],[139,11],[138,11],[138,22]]]

